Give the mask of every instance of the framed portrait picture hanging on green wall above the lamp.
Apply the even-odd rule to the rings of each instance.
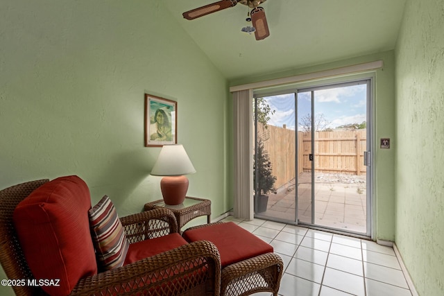
[[[178,142],[178,103],[145,94],[145,147],[162,147]]]

